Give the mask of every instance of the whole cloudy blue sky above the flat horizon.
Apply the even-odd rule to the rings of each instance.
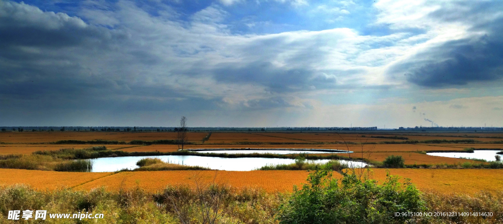
[[[503,1],[0,0],[0,126],[503,126]]]

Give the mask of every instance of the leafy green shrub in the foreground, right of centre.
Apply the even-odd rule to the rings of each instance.
[[[413,217],[394,212],[426,210],[420,192],[408,181],[402,186],[395,176],[379,185],[348,174],[339,183],[330,170],[316,168],[307,180],[280,206],[280,223],[404,223]]]

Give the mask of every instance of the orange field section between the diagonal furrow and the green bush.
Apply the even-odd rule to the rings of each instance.
[[[118,190],[121,185],[124,188],[140,187],[149,191],[156,191],[166,185],[198,184],[212,182],[229,184],[234,187],[262,187],[268,192],[292,191],[293,185],[301,186],[306,183],[307,172],[303,170],[268,170],[268,171],[137,171],[121,172],[107,176],[96,181],[82,184],[75,189],[89,190],[97,186],[107,186],[108,189]],[[216,177],[215,177],[216,175]],[[339,173],[334,177],[341,178]]]

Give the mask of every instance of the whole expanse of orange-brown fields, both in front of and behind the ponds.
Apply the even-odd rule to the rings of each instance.
[[[459,133],[440,133],[452,137],[436,136],[435,133],[238,133],[213,132],[210,138],[202,142],[206,132],[189,132],[189,141],[195,145],[185,145],[185,148],[323,148],[354,151],[351,154],[339,153],[340,156],[363,157],[382,162],[389,155],[400,155],[407,165],[436,165],[430,169],[390,169],[391,174],[411,178],[418,188],[434,190],[443,193],[460,192],[474,193],[479,190],[496,191],[503,189],[502,169],[440,169],[444,164],[458,165],[465,162],[480,163],[473,160],[430,156],[422,151],[462,151],[464,148],[501,149],[503,144],[484,143],[439,143],[439,144],[358,144],[360,142],[403,141],[401,139],[369,138],[369,136],[407,137],[409,140],[433,139],[474,139],[479,141],[499,141],[502,135],[468,134],[462,137]],[[366,137],[361,137],[365,135]],[[353,142],[349,145],[334,142]],[[459,137],[458,137],[459,136]],[[474,138],[470,138],[474,137]],[[100,144],[51,144],[59,140],[175,140],[174,132],[0,132],[0,154],[30,154],[38,150],[58,150],[60,148],[87,148]],[[275,144],[277,143],[277,144]],[[291,144],[290,144],[291,143]],[[356,144],[355,144],[356,143]],[[107,144],[107,149],[126,152],[174,152],[178,145],[129,145]],[[363,156],[362,156],[363,150]],[[318,154],[327,155],[327,154]],[[456,167],[456,166],[454,166]],[[372,177],[384,180],[386,170],[374,168]],[[149,191],[162,189],[171,184],[188,184],[196,182],[207,183],[215,180],[218,183],[234,187],[262,187],[268,192],[292,191],[293,185],[306,183],[307,172],[303,170],[256,170],[256,171],[214,171],[214,170],[179,170],[179,171],[126,171],[119,173],[89,173],[89,172],[56,172],[23,169],[0,169],[0,184],[26,183],[37,189],[54,189],[57,187],[72,187],[77,190],[89,190],[98,186],[107,186],[111,190],[140,186]],[[340,178],[339,173],[333,174]],[[196,181],[197,179],[197,181]]]

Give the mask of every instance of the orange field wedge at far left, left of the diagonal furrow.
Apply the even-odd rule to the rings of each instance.
[[[26,169],[0,169],[0,184],[29,184],[36,189],[73,187],[112,173],[56,172]]]

